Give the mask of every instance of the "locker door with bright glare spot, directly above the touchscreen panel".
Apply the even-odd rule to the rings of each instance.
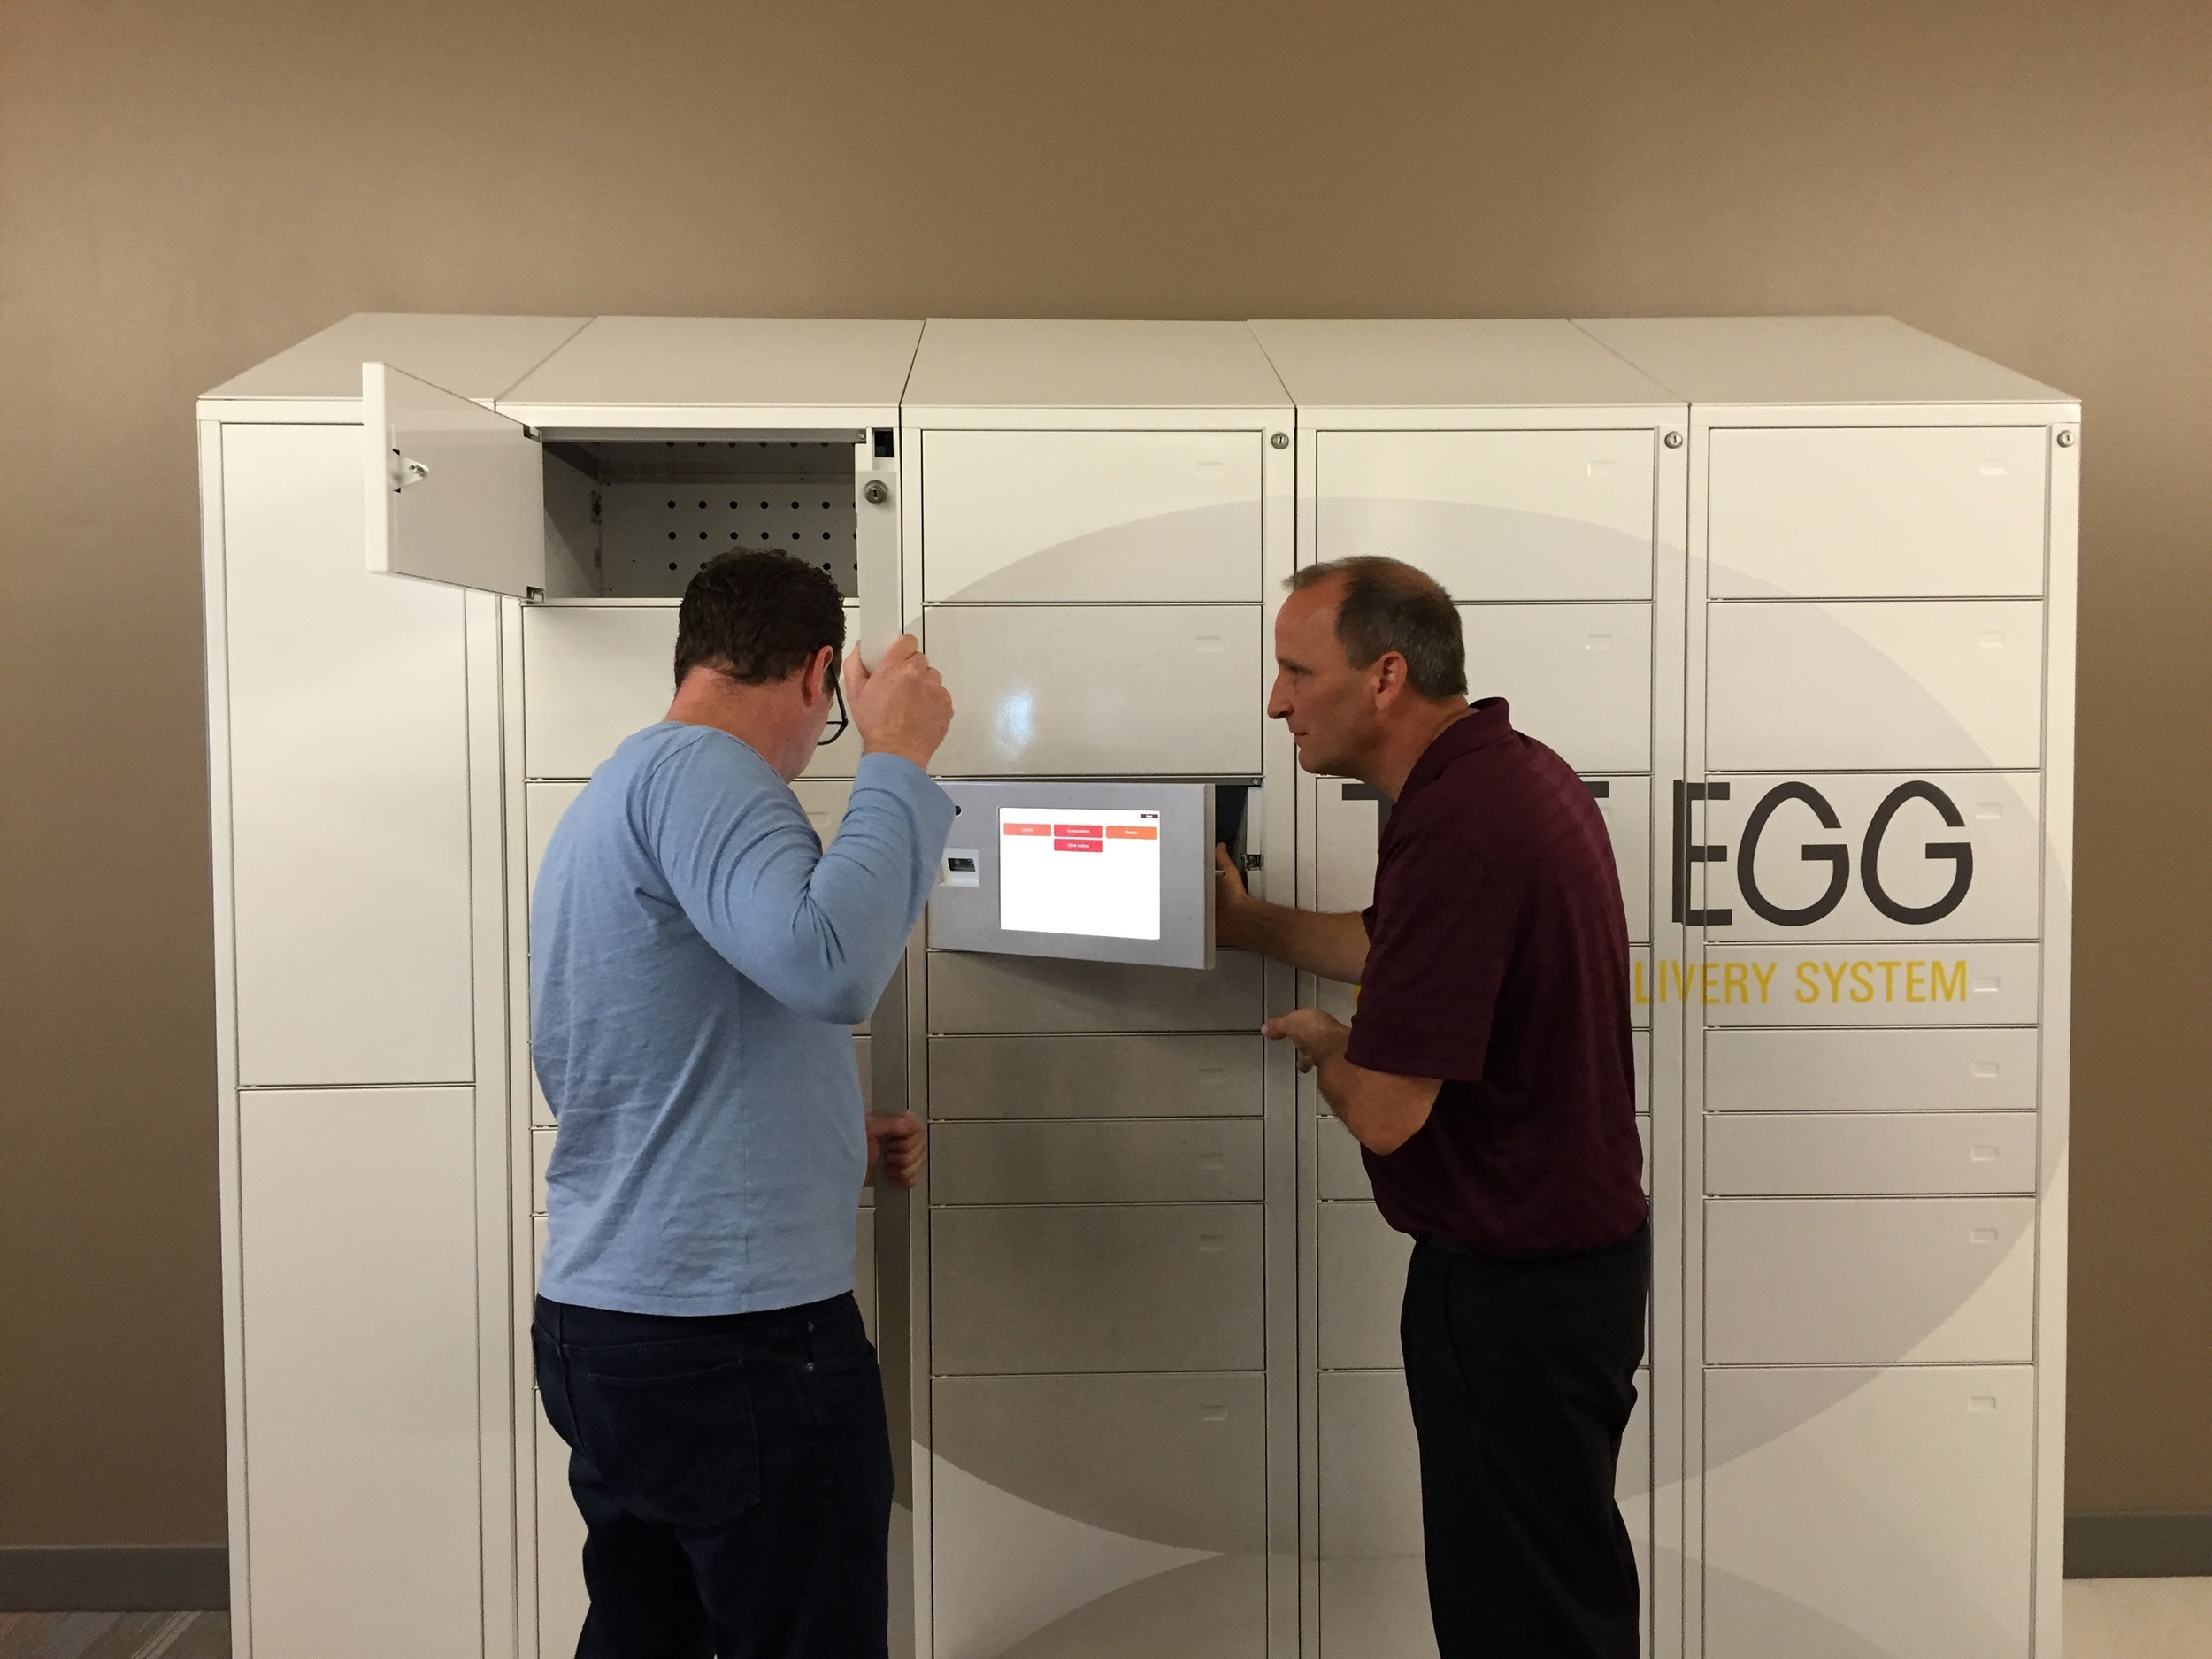
[[[947,606],[942,776],[1259,776],[1261,606]]]

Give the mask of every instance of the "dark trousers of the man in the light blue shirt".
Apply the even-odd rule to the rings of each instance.
[[[538,1298],[591,1613],[577,1659],[883,1659],[891,1440],[860,1307],[666,1318]]]

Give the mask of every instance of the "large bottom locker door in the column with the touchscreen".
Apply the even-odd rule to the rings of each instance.
[[[1261,1659],[1259,1376],[940,1378],[931,1398],[940,1659]]]

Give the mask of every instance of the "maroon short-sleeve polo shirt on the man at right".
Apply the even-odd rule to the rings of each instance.
[[[1644,1225],[1613,845],[1504,699],[1447,726],[1391,807],[1345,1057],[1444,1084],[1405,1146],[1363,1152],[1400,1232],[1540,1256]]]

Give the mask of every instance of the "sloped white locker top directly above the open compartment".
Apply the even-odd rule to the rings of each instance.
[[[922,325],[830,316],[595,316],[502,409],[876,409],[896,420]]]

